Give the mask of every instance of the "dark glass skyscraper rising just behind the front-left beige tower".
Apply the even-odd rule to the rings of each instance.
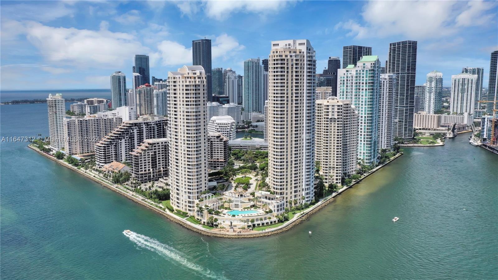
[[[211,77],[211,40],[200,39],[192,41],[192,64],[204,68],[206,75],[207,102],[213,101],[213,84]]]

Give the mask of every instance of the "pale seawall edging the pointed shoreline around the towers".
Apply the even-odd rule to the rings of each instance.
[[[249,233],[243,233],[243,234],[237,234],[237,233],[220,233],[220,232],[213,232],[213,231],[210,231],[210,230],[207,230],[207,229],[204,229],[202,228],[201,226],[198,226],[198,225],[194,225],[194,224],[191,224],[190,222],[187,222],[185,221],[184,219],[170,213],[170,212],[167,212],[167,211],[163,211],[155,206],[152,206],[150,205],[149,203],[147,203],[146,201],[142,201],[134,196],[131,196],[129,195],[128,193],[114,187],[113,185],[110,185],[108,184],[107,182],[105,181],[102,181],[100,180],[99,178],[96,178],[96,177],[93,177],[81,170],[79,170],[78,168],[68,164],[68,163],[65,163],[65,162],[62,162],[58,159],[56,159],[55,157],[47,154],[47,153],[44,153],[40,150],[38,150],[36,147],[33,147],[32,145],[28,145],[28,147],[36,152],[38,152],[39,154],[41,155],[44,155],[52,160],[54,160],[55,162],[57,162],[58,164],[60,165],[63,165],[67,168],[70,168],[76,172],[78,172],[79,174],[111,189],[112,191],[116,192],[116,193],[119,193],[121,195],[124,195],[126,198],[142,205],[142,206],[145,206],[146,208],[160,214],[160,215],[163,215],[164,217],[166,217],[168,220],[172,221],[172,222],[175,222],[179,225],[181,225],[182,227],[184,228],[187,228],[191,231],[194,231],[196,233],[199,233],[199,234],[202,234],[202,235],[205,235],[205,236],[211,236],[211,237],[218,237],[218,238],[256,238],[256,237],[265,237],[265,236],[271,236],[271,235],[274,235],[274,234],[278,234],[278,233],[282,233],[282,232],[285,232],[285,231],[288,231],[290,230],[292,227],[302,223],[303,221],[305,221],[306,219],[308,219],[311,215],[313,215],[314,213],[320,211],[323,207],[327,206],[328,204],[330,204],[332,201],[334,201],[334,197],[336,197],[337,195],[341,194],[342,192],[346,191],[347,189],[349,189],[350,187],[352,187],[353,185],[355,185],[356,183],[358,182],[361,182],[364,178],[370,176],[371,174],[373,174],[375,171],[379,170],[382,166],[388,164],[389,162],[391,162],[392,160],[394,160],[395,158],[399,157],[402,153],[398,153],[397,155],[395,155],[393,158],[391,158],[389,161],[385,162],[384,164],[382,165],[379,165],[377,166],[376,168],[374,168],[372,171],[370,171],[369,173],[367,173],[365,176],[363,176],[362,178],[360,178],[358,181],[355,181],[353,182],[352,184],[350,184],[349,186],[345,186],[343,187],[341,190],[339,190],[337,193],[335,193],[334,195],[332,196],[329,196],[328,198],[325,198],[324,200],[320,201],[319,203],[315,204],[312,208],[310,209],[307,209],[299,214],[296,214],[296,216],[290,220],[290,221],[287,221],[286,223],[284,223],[283,225],[279,226],[279,227],[275,227],[275,228],[268,228],[266,231],[264,232],[257,232],[257,231],[252,231],[252,232],[249,232]],[[300,215],[300,216],[298,216]]]

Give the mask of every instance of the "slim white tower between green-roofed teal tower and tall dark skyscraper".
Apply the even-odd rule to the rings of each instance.
[[[380,152],[380,149],[390,149],[393,144],[393,100],[396,95],[396,90],[396,74],[380,74],[380,91],[378,97],[378,152]]]

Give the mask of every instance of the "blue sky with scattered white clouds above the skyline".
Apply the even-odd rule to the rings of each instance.
[[[431,70],[444,86],[462,67],[484,67],[498,49],[496,1],[4,1],[2,90],[102,89],[134,54],[151,76],[192,64],[191,42],[213,40],[213,68],[243,74],[271,40],[309,39],[318,72],[342,46],[372,46],[382,64],[390,42],[417,40],[417,84]]]

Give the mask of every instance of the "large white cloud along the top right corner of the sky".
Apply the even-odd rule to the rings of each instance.
[[[335,28],[350,30],[356,38],[403,35],[421,40],[455,34],[458,26],[492,22],[486,14],[495,4],[471,1],[369,1],[363,6],[365,24],[355,20],[339,22]],[[483,19],[484,18],[484,19]],[[472,22],[472,23],[470,23]]]

